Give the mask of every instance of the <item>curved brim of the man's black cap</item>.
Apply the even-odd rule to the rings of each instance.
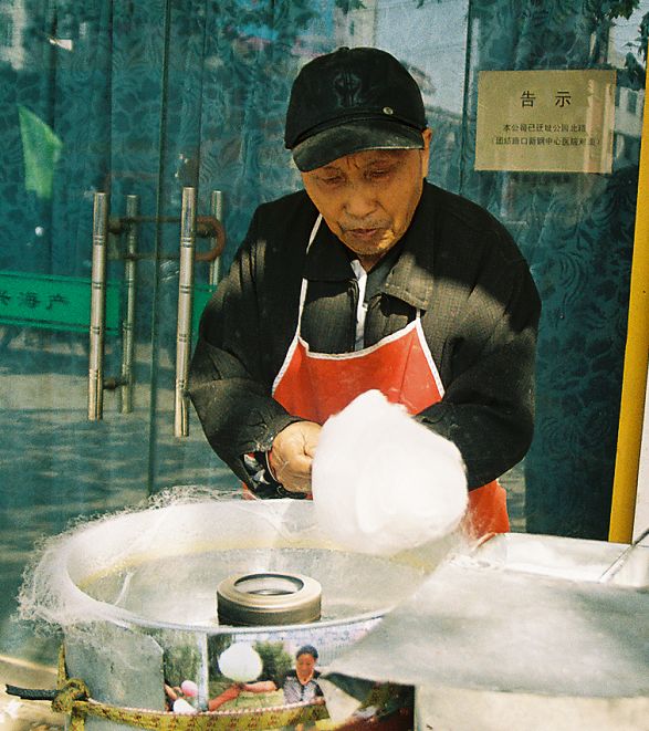
[[[423,149],[419,129],[386,119],[347,122],[307,137],[293,148],[299,170],[308,173],[366,149]]]

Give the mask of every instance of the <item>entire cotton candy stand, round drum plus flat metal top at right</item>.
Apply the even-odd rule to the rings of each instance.
[[[235,680],[274,680],[210,728],[292,725],[262,707],[285,703],[278,678],[311,652],[328,728],[380,729],[388,708],[411,728],[416,688],[418,727],[436,731],[635,731],[649,718],[648,589],[647,537],[454,534],[387,558],[331,543],[310,502],[198,495],[52,540],[21,606],[62,628],[69,675],[105,703],[163,711],[165,688],[191,687],[196,712]],[[370,688],[383,695],[363,703]]]

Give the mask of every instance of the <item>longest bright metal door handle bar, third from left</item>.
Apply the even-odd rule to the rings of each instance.
[[[180,213],[180,276],[178,281],[178,327],[176,331],[176,404],[174,434],[189,436],[189,358],[191,353],[191,309],[193,294],[193,250],[196,246],[196,188],[182,188]]]

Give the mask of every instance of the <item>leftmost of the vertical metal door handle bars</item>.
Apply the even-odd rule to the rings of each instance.
[[[106,240],[109,198],[96,192],[93,207],[93,264],[91,274],[91,326],[88,357],[88,420],[104,411],[104,332],[106,316]]]

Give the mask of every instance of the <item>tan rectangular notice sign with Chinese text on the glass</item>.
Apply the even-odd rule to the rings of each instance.
[[[610,173],[615,71],[481,71],[477,170]]]

